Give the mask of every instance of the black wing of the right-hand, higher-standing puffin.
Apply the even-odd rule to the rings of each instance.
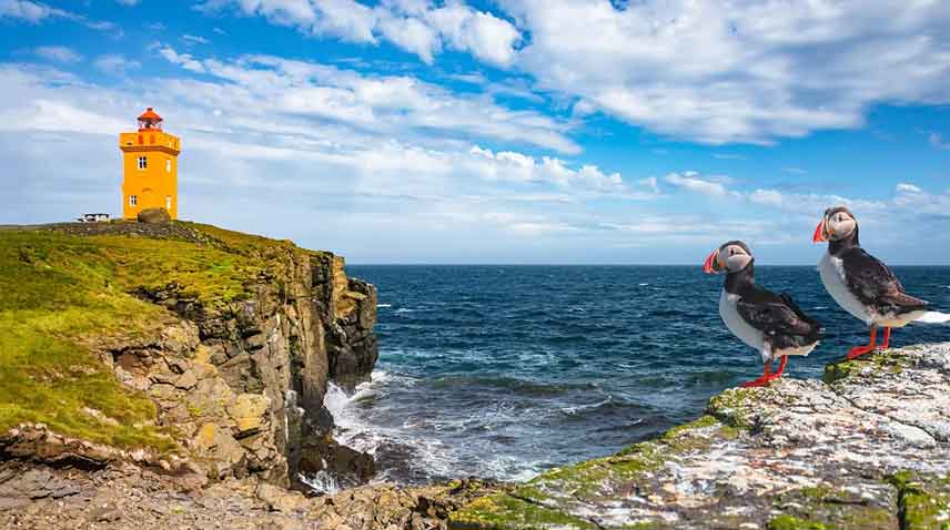
[[[907,313],[927,307],[927,302],[903,292],[903,285],[890,267],[861,247],[841,255],[848,289],[862,304],[881,313]]]

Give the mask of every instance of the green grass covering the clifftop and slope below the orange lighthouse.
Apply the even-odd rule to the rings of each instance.
[[[43,422],[115,447],[174,449],[154,426],[152,401],[91,351],[104,337],[152,335],[173,322],[132,296],[138,288],[174,283],[179,296],[213,309],[247,297],[246,283],[293,246],[191,226],[222,244],[0,232],[0,431]]]

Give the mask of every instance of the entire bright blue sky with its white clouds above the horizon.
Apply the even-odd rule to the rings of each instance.
[[[351,263],[815,263],[821,212],[950,264],[950,4],[0,0],[0,223],[180,215]]]

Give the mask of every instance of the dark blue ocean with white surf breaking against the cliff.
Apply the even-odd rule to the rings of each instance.
[[[350,266],[380,289],[371,383],[327,404],[337,437],[375,453],[380,479],[527,479],[606,456],[697,418],[761,374],[718,315],[722,277],[686,266]],[[950,310],[950,267],[896,268],[908,292]],[[820,377],[867,328],[815,267],[757,267],[827,339],[787,374]],[[950,340],[912,325],[893,344]]]

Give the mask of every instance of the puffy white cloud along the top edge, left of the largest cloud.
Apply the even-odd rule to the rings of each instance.
[[[355,0],[205,0],[199,4],[206,12],[228,8],[316,35],[373,44],[382,38],[426,63],[443,49],[452,49],[506,67],[521,41],[507,20],[458,1],[439,6],[390,0],[372,8]]]

